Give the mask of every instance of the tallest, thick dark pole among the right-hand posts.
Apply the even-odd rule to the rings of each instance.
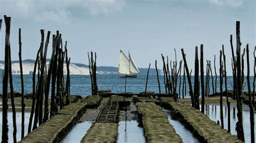
[[[241,81],[241,40],[240,40],[240,22],[236,23],[236,34],[237,34],[237,92],[238,92],[238,101],[240,104],[240,111],[238,111],[238,139],[241,141],[245,141],[244,136],[244,127],[242,125],[242,81]]]

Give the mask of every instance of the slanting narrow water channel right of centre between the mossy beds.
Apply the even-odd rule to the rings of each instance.
[[[166,113],[166,116],[170,121],[170,124],[173,126],[176,133],[180,135],[183,142],[200,142],[199,139],[195,137],[193,133],[190,130],[188,130],[179,120],[172,119],[170,110],[167,110],[165,108],[162,108],[162,110]]]

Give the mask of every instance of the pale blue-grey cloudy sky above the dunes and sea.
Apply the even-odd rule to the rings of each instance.
[[[219,73],[219,51],[224,45],[228,75],[232,75],[230,35],[236,48],[235,22],[239,20],[241,48],[250,46],[252,75],[255,7],[255,0],[0,0],[0,19],[11,17],[12,60],[18,60],[18,28],[22,28],[23,59],[36,58],[41,29],[45,35],[59,30],[63,41],[68,41],[68,56],[74,63],[87,64],[87,52],[93,51],[97,66],[118,67],[122,49],[126,54],[130,51],[137,67],[147,68],[149,63],[154,67],[157,60],[162,68],[161,53],[173,61],[176,48],[179,61],[184,48],[191,69],[195,47],[204,44],[205,70],[206,59],[213,67],[216,55]],[[3,20],[0,60],[4,60],[4,38]]]

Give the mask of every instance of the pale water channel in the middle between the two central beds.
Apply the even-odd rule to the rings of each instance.
[[[117,142],[146,142],[144,129],[138,125],[137,120],[127,121],[125,132],[125,121],[119,121]]]

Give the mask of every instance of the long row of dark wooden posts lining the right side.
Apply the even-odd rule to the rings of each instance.
[[[250,106],[250,122],[251,122],[251,142],[254,142],[254,107],[255,104],[254,96],[255,96],[255,67],[256,67],[256,58],[255,58],[255,50],[254,48],[254,80],[253,80],[253,94],[251,95],[251,87],[250,87],[250,61],[249,61],[249,45],[246,45],[244,48],[244,52],[241,55],[241,42],[240,42],[240,22],[236,24],[236,35],[237,35],[237,51],[236,56],[234,55],[233,43],[232,43],[232,35],[230,35],[230,44],[232,50],[232,73],[233,73],[233,95],[232,98],[237,101],[237,109],[238,109],[238,122],[236,124],[235,130],[237,131],[237,137],[241,141],[245,141],[244,137],[244,127],[242,126],[242,89],[244,85],[244,56],[245,51],[247,55],[247,87],[248,87],[248,98],[249,98],[249,106]],[[200,95],[200,83],[201,83],[201,112],[204,113],[205,108],[205,97],[210,95],[210,73],[212,78],[212,91],[213,95],[217,96],[217,71],[215,66],[215,55],[214,55],[214,71],[215,71],[215,88],[214,88],[214,79],[212,74],[211,61],[207,61],[206,67],[206,77],[204,82],[204,52],[203,52],[203,44],[200,45],[200,81],[199,81],[199,58],[198,58],[198,47],[196,46],[195,51],[195,61],[194,61],[194,88],[192,87],[191,82],[191,73],[187,62],[186,62],[186,54],[184,53],[184,49],[181,48],[181,53],[183,55],[183,60],[180,60],[178,72],[177,72],[177,58],[175,56],[175,61],[170,61],[167,56],[167,61],[165,62],[165,58],[163,54],[161,57],[163,59],[163,71],[164,71],[164,84],[165,84],[165,92],[173,97],[174,100],[178,102],[178,98],[180,97],[180,88],[181,88],[181,67],[182,62],[184,61],[184,74],[183,74],[183,98],[184,98],[184,83],[186,84],[185,75],[187,75],[188,85],[189,85],[189,94],[191,96],[192,107],[200,110],[199,104],[199,95]],[[176,49],[174,49],[176,55]],[[157,70],[157,80],[159,85],[159,94],[161,94],[160,82],[158,76],[158,68],[156,61],[156,70]],[[169,68],[170,67],[170,68]],[[150,66],[149,66],[150,69]],[[149,70],[148,70],[149,71]],[[186,71],[186,72],[185,72]],[[171,74],[170,74],[171,73]],[[147,80],[148,80],[149,72],[147,72]],[[177,95],[177,78],[179,76],[179,96]],[[225,79],[225,80],[223,80]],[[146,88],[147,89],[147,80],[146,80]],[[228,89],[227,89],[227,73],[226,73],[226,55],[224,51],[224,45],[222,45],[222,50],[220,51],[220,68],[219,68],[219,83],[220,83],[220,124],[221,128],[224,128],[224,118],[223,118],[223,96],[226,96],[226,104],[228,111],[228,119],[227,119],[227,131],[231,131],[231,122],[230,122],[230,102],[228,101]],[[225,82],[225,91],[223,91],[223,83]],[[186,85],[185,85],[186,87]],[[186,91],[186,89],[185,89]],[[185,94],[186,95],[186,94]]]

